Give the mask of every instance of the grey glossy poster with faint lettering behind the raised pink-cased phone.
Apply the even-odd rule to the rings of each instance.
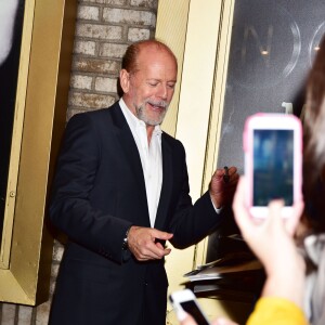
[[[323,0],[235,1],[218,167],[233,165],[244,172],[242,134],[247,116],[257,112],[300,116],[306,77],[325,32],[324,14]],[[220,253],[220,238],[235,231],[227,225],[225,234],[210,236],[208,261]]]

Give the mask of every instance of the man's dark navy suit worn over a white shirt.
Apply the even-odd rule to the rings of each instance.
[[[162,132],[161,151],[155,227],[173,233],[171,244],[185,248],[212,231],[222,213],[208,193],[192,204],[181,142]],[[151,225],[140,155],[118,103],[69,120],[50,218],[69,238],[50,324],[165,325],[164,260],[139,262],[122,250],[131,224]]]

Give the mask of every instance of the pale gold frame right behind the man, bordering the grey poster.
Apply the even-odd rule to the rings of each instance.
[[[193,200],[207,191],[217,167],[234,2],[159,1],[156,37],[171,47],[179,62],[176,94],[162,128],[185,146]],[[167,257],[169,292],[183,288],[183,274],[205,263],[207,242],[173,248]],[[230,316],[214,299],[205,299],[204,308],[209,318]],[[170,304],[167,324],[178,324]]]

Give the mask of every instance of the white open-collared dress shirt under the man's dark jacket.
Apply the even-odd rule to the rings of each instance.
[[[151,143],[145,122],[136,118],[120,99],[119,105],[133,134],[141,158],[151,226],[154,227],[162,184],[161,129],[155,126]]]

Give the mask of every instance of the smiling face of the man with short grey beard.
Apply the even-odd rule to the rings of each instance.
[[[123,100],[132,113],[147,126],[160,125],[174,92],[177,63],[166,51],[143,49],[138,72],[128,74]]]

